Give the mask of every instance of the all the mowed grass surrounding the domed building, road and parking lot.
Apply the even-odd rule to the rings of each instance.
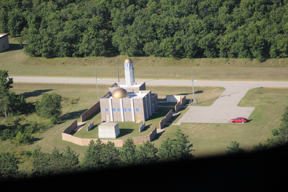
[[[115,78],[117,79],[117,66],[115,60],[118,59],[120,78],[124,79],[123,62],[126,56],[114,58],[29,58],[23,53],[21,47],[14,39],[10,40],[10,49],[0,53],[0,69],[9,71],[10,76],[43,76],[43,77],[91,77]],[[13,42],[14,41],[14,42]],[[193,69],[194,79],[198,80],[223,80],[223,81],[288,81],[288,59],[270,59],[259,62],[250,59],[173,59],[156,57],[131,57],[135,67],[136,79],[191,79],[191,69]],[[123,62],[121,62],[123,61]],[[9,141],[1,142],[0,151],[21,151],[35,149],[36,145],[41,146],[43,152],[52,152],[54,147],[60,151],[69,145],[75,152],[84,156],[86,146],[78,146],[73,143],[61,140],[61,132],[89,109],[92,104],[98,101],[96,85],[91,84],[60,84],[60,83],[17,83],[13,84],[12,91],[25,96],[30,108],[33,109],[36,100],[41,99],[42,93],[56,92],[68,98],[76,100],[71,104],[63,102],[62,121],[56,125],[49,125],[49,120],[41,119],[34,113],[27,112],[19,117],[13,117],[25,123],[25,119],[37,120],[47,125],[48,129],[38,135],[34,135],[33,144],[16,145]],[[110,85],[98,84],[99,96],[108,91]],[[157,93],[158,98],[164,99],[166,95],[185,94],[187,100],[192,99],[191,87],[171,87],[171,86],[146,86],[147,90]],[[194,87],[198,102],[201,106],[210,106],[223,92],[224,88],[219,87]],[[262,92],[263,94],[259,94]],[[271,130],[280,124],[281,115],[288,104],[287,88],[256,88],[249,91],[238,104],[241,107],[256,107],[249,119],[249,123],[182,123],[180,126],[170,125],[164,128],[164,132],[158,135],[152,142],[159,148],[162,140],[167,137],[173,138],[175,130],[181,130],[189,135],[189,140],[193,143],[196,158],[211,155],[223,155],[227,145],[231,141],[240,142],[240,147],[249,151],[254,144],[265,142],[267,137],[271,137]],[[189,103],[187,103],[189,105]],[[193,106],[192,106],[193,107]],[[172,108],[171,108],[172,109]],[[146,121],[147,128],[143,134],[150,132],[155,126],[159,126],[159,121],[170,110],[170,108],[159,108],[158,114],[154,114],[149,121]],[[177,118],[171,122],[177,122],[187,108],[182,108]],[[33,112],[33,111],[32,111]],[[10,119],[11,120],[11,119]],[[13,119],[12,119],[13,120]],[[101,123],[100,113],[94,114],[91,119]],[[0,123],[6,124],[5,119]],[[122,123],[122,122],[121,122]],[[130,123],[130,124],[129,124]],[[96,123],[95,123],[96,124]],[[96,124],[96,125],[97,125]],[[124,122],[123,127],[127,134],[121,138],[138,135],[134,128],[139,128],[140,123]],[[96,127],[96,126],[95,126]],[[131,130],[133,128],[133,131]],[[74,136],[86,137],[90,133],[83,130],[74,133]],[[91,136],[97,136],[97,128],[91,131]],[[94,133],[93,133],[94,132]],[[137,146],[139,147],[139,146]],[[31,171],[31,159],[23,160],[19,165],[21,169]],[[81,159],[80,159],[81,160]]]

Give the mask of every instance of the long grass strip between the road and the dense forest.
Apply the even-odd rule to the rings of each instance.
[[[123,55],[88,58],[29,58],[23,47],[10,38],[10,49],[0,53],[0,69],[10,76],[39,77],[95,77],[124,79]],[[136,79],[194,79],[223,81],[288,81],[288,58],[259,62],[251,59],[202,58],[174,59],[159,57],[131,57]],[[122,62],[121,62],[122,61]]]

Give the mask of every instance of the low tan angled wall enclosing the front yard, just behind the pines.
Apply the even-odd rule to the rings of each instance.
[[[75,121],[76,121],[76,127],[77,127],[77,120],[75,120]],[[71,125],[72,125],[72,123],[71,123]],[[64,133],[65,130],[66,130],[66,132]],[[75,143],[77,145],[82,145],[82,146],[88,146],[90,141],[92,140],[92,139],[86,139],[86,138],[83,139],[83,138],[78,138],[78,137],[72,136],[72,135],[67,133],[67,128],[65,130],[62,132],[62,140],[69,141],[69,142]],[[71,131],[73,131],[73,130],[74,129],[72,129]],[[151,142],[155,138],[156,135],[157,135],[157,130],[155,127],[154,130],[149,135],[142,136],[142,137],[135,137],[132,139],[133,139],[133,142],[135,145],[139,145],[139,144],[143,144],[143,142],[146,142],[147,140],[149,142]],[[93,140],[96,141],[97,139],[94,138]],[[101,141],[103,143],[108,143],[108,141],[113,142],[115,144],[115,147],[123,147],[125,140],[126,139],[101,139]]]

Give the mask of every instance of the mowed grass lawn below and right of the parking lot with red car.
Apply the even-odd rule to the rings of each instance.
[[[262,92],[263,94],[259,94]],[[164,133],[153,141],[160,147],[163,139],[173,138],[180,128],[193,143],[195,157],[223,155],[231,141],[238,141],[246,152],[254,144],[265,143],[271,137],[271,130],[281,123],[284,108],[288,104],[288,88],[255,88],[241,100],[241,107],[256,107],[248,123],[181,123],[180,126],[166,126]]]

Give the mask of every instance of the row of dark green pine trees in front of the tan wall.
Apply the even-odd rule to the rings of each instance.
[[[100,169],[113,169],[147,164],[155,164],[165,161],[191,160],[192,155],[188,136],[180,129],[176,130],[175,138],[163,141],[159,152],[154,144],[149,141],[136,149],[132,138],[128,138],[121,150],[118,150],[113,142],[104,144],[100,139],[91,140],[82,163],[79,163],[79,154],[67,146],[63,152],[54,147],[52,153],[44,153],[37,146],[33,151],[27,151],[32,157],[32,176],[53,176],[59,174],[71,174],[82,171],[95,171]],[[168,144],[168,145],[167,145]],[[10,153],[0,153],[0,181],[24,178],[26,173],[18,171],[19,158]]]

